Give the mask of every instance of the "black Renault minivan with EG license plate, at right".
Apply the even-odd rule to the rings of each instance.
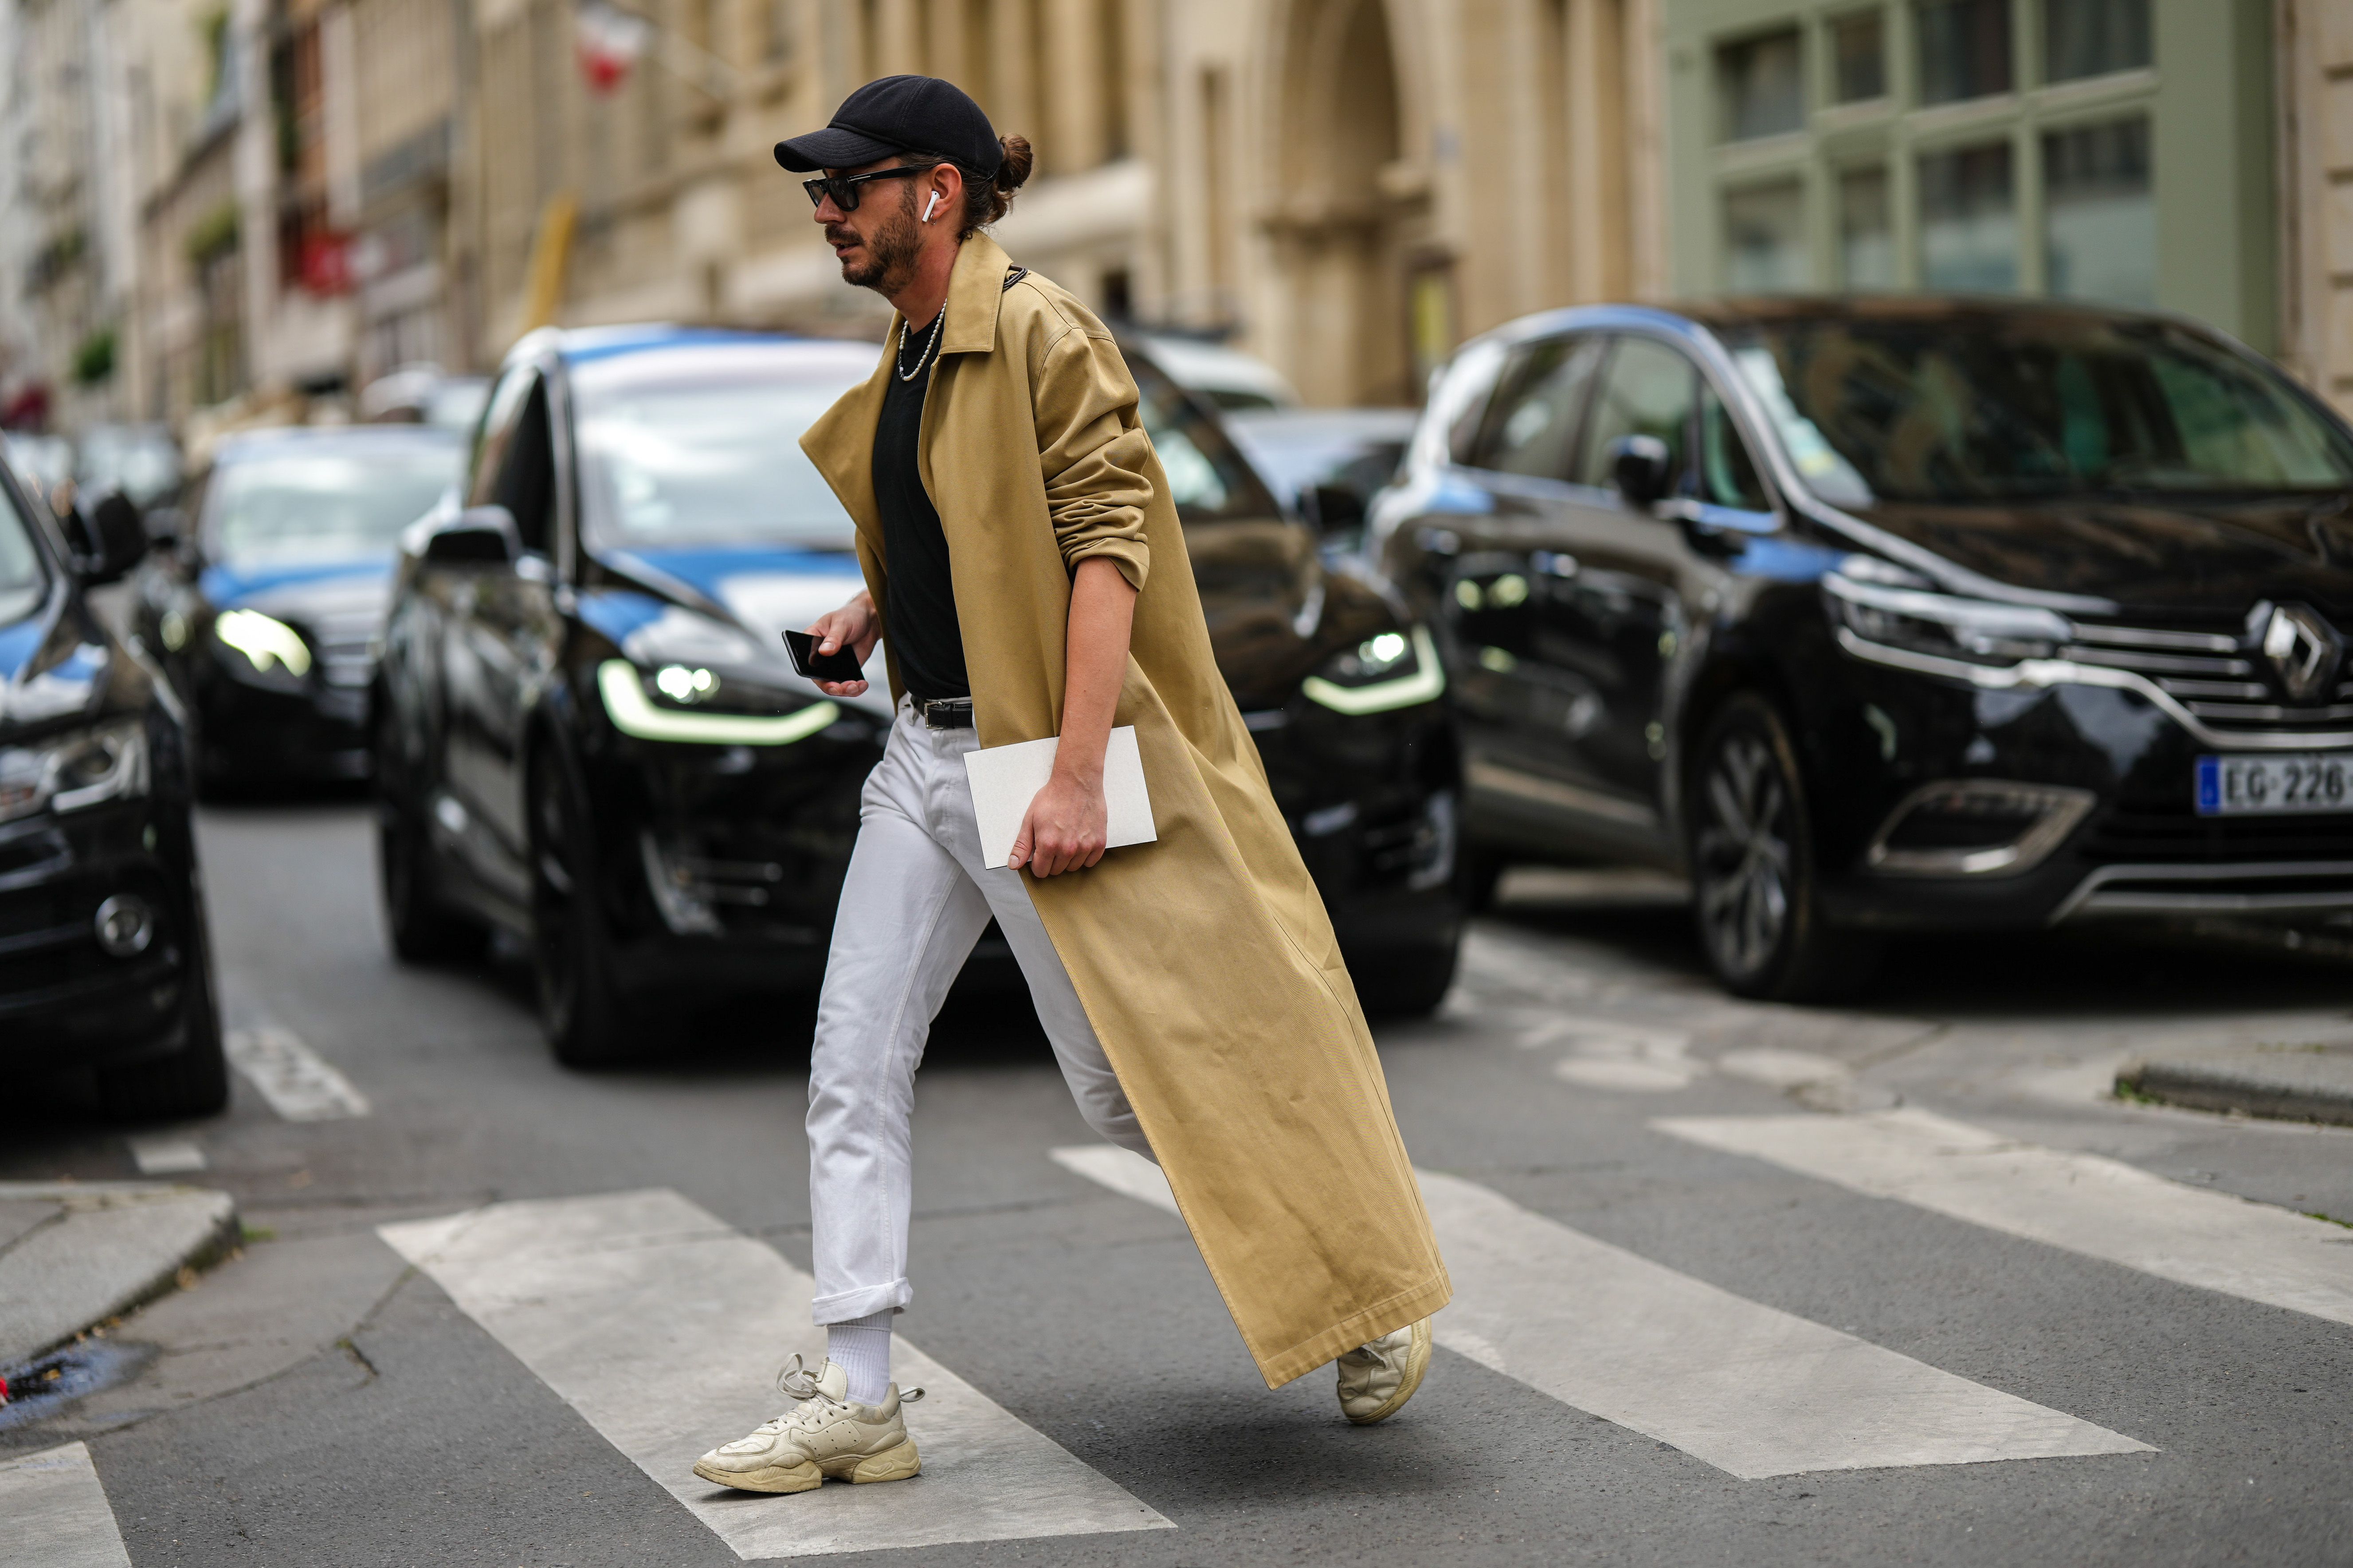
[[[1529,317],[1435,381],[1367,550],[1489,875],[1687,870],[1737,992],[1887,931],[2353,910],[2353,433],[2191,322]]]

